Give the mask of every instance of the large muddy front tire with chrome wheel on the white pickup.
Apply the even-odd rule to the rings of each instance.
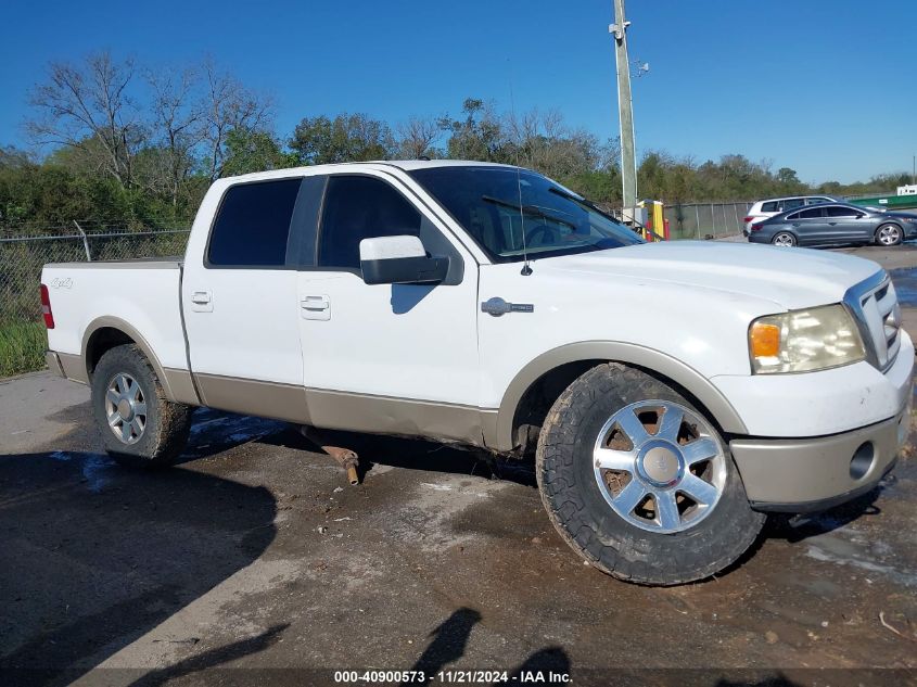
[[[551,522],[599,570],[645,585],[703,580],[754,543],[765,516],[748,502],[728,446],[676,390],[604,364],[548,412],[536,474]]]

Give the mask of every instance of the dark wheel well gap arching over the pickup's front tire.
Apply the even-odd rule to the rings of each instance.
[[[682,394],[695,408],[700,410],[703,416],[711,422],[719,434],[726,438],[728,434],[723,430],[719,421],[712,412],[702,404],[697,396],[685,389],[682,384],[674,380],[660,374],[659,372],[649,368],[634,365],[632,362],[623,362],[620,360],[577,360],[575,362],[566,362],[552,370],[546,372],[537,380],[535,380],[515,408],[512,421],[512,438],[517,446],[522,447],[523,453],[533,449],[538,441],[538,433],[542,425],[545,423],[545,418],[548,411],[553,406],[555,402],[560,397],[564,390],[570,386],[580,376],[587,370],[606,362],[621,362],[628,367],[635,368],[658,379],[659,381],[670,385],[672,389]]]

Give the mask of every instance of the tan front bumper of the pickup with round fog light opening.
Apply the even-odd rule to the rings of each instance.
[[[910,403],[894,417],[817,438],[740,438],[729,443],[752,507],[824,510],[869,492],[907,441]]]

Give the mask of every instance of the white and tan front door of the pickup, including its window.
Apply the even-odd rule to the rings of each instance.
[[[443,283],[364,282],[360,241],[399,234],[449,257]],[[480,443],[477,265],[399,179],[329,176],[298,297],[314,424]]]

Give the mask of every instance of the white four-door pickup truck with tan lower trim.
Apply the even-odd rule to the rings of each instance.
[[[48,265],[42,296],[48,364],[91,385],[122,462],[170,462],[193,406],[535,448],[561,535],[642,584],[869,491],[909,424],[914,346],[875,263],[645,244],[509,166],[221,179],[183,260]]]

